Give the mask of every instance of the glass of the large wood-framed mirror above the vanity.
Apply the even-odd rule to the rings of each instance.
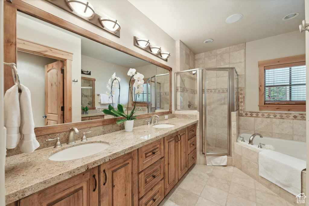
[[[132,110],[129,68],[143,74],[145,81],[136,114],[170,109],[169,70],[21,12],[16,32],[17,67],[21,84],[31,92],[35,127],[112,118],[102,112],[108,101],[100,103],[97,94],[110,92],[107,84],[114,72],[121,79],[120,91],[113,89],[115,100],[110,103],[116,108],[119,97],[119,102]],[[45,55],[48,50],[57,54]],[[91,71],[91,75],[81,70]],[[82,110],[86,106],[88,113]]]

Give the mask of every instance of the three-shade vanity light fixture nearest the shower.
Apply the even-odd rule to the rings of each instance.
[[[161,47],[158,46],[151,46],[149,39],[140,39],[136,36],[133,36],[133,44],[134,46],[149,52],[150,54],[159,57],[160,59],[163,59],[164,61],[167,61],[167,58],[171,56],[169,52],[162,52]]]

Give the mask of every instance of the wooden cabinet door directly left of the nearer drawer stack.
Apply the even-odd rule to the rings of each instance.
[[[137,150],[100,165],[100,203],[104,206],[138,205]]]

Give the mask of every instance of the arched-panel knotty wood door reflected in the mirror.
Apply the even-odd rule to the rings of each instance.
[[[62,61],[45,65],[45,125],[63,123]]]

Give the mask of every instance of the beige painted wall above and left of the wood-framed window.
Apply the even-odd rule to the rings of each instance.
[[[305,54],[305,34],[293,31],[246,43],[246,111],[259,111],[258,61]]]

